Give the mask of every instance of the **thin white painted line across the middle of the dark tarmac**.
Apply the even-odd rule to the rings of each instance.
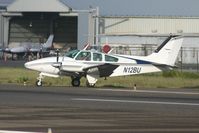
[[[131,100],[89,99],[89,98],[72,98],[71,100],[73,100],[73,101],[90,101],[90,102],[114,102],[114,103],[140,103],[140,104],[199,106],[199,103],[181,103],[181,102],[131,101]]]

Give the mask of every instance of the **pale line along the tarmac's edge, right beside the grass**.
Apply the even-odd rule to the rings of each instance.
[[[182,95],[199,95],[198,92],[180,92],[180,91],[151,91],[151,90],[123,90],[123,89],[98,89],[99,91],[113,92],[140,92],[140,93],[156,93],[156,94],[182,94]]]

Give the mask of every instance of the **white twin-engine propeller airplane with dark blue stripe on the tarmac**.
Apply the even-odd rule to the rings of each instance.
[[[25,67],[39,71],[36,85],[42,86],[44,76],[70,76],[72,86],[80,86],[81,77],[94,86],[100,77],[126,76],[160,72],[175,66],[182,46],[181,36],[169,36],[151,55],[110,55],[92,50],[73,50],[64,56],[48,57],[25,63]]]

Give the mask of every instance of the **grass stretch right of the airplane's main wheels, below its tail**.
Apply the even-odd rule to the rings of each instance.
[[[101,81],[101,80],[100,80]],[[199,78],[191,79],[184,77],[164,77],[161,74],[135,75],[128,77],[109,78],[108,81],[98,82],[98,86],[111,85],[112,87],[133,88],[134,84],[138,88],[197,88]]]

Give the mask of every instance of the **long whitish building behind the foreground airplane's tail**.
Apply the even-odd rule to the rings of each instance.
[[[179,61],[198,64],[199,17],[121,16],[100,18],[101,44],[116,53],[148,55],[169,36],[184,35]]]

